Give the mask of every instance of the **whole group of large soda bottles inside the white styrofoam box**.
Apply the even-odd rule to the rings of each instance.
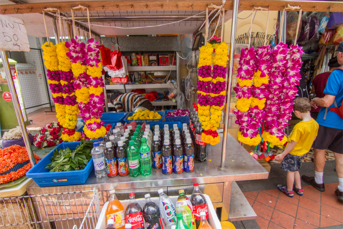
[[[173,204],[161,188],[158,190],[158,205],[145,194],[143,208],[135,200],[134,193],[129,194],[129,204],[124,210],[117,199],[115,190],[110,191],[110,200],[106,209],[107,228],[143,229],[212,229],[209,224],[208,207],[205,196],[194,183],[194,190],[189,199],[184,190],[179,190],[176,205]]]

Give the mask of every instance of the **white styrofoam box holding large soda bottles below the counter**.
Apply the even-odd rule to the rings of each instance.
[[[209,220],[210,220],[210,225],[213,229],[222,229],[222,226],[220,224],[220,221],[217,217],[217,214],[214,210],[214,207],[212,205],[212,201],[210,199],[210,197],[206,194],[204,194],[205,198],[206,198],[206,202],[207,202],[207,207],[208,207],[208,211],[209,211]],[[177,201],[177,198],[179,196],[169,196],[171,201],[173,202],[174,204],[174,207],[176,207],[176,201]],[[187,195],[188,198],[191,198],[191,195]],[[158,203],[159,203],[159,198],[158,197],[152,197],[151,200],[153,202],[155,202],[155,204],[157,204],[158,206]],[[140,199],[136,199],[136,201],[138,202],[138,204],[141,206],[141,208],[143,209],[146,201],[145,201],[145,198],[140,198]],[[106,209],[107,209],[107,205],[108,205],[109,202],[106,202],[104,204],[104,207],[100,213],[100,216],[99,216],[99,219],[98,219],[98,223],[96,224],[96,227],[95,229],[105,229],[107,227],[107,220],[106,220]],[[126,209],[126,207],[129,205],[129,200],[125,200],[125,201],[120,201],[120,203],[123,205],[124,207],[124,210]],[[144,218],[143,218],[144,220]],[[146,229],[145,227],[145,224],[144,224],[144,228]],[[164,228],[167,228],[167,227],[164,227]]]

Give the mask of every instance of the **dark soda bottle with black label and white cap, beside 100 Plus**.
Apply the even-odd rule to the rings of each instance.
[[[163,229],[161,214],[157,204],[151,201],[150,194],[144,196],[146,203],[143,207],[143,217],[147,229]]]

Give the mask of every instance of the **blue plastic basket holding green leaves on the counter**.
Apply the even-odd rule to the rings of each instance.
[[[32,169],[27,171],[26,176],[28,178],[32,178],[39,187],[84,184],[94,168],[93,158],[91,158],[83,170],[49,172],[49,170],[45,168],[47,164],[51,163],[50,158],[54,156],[55,150],[67,149],[67,147],[74,150],[76,146],[80,144],[80,141],[62,142],[42,160],[40,160]]]

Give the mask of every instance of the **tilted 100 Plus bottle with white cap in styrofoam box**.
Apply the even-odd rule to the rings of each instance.
[[[175,225],[177,222],[176,218],[176,209],[173,205],[173,202],[171,202],[171,199],[164,194],[163,189],[159,189],[159,212],[161,213],[161,218],[163,220],[163,223],[166,227],[170,227],[171,225]]]

